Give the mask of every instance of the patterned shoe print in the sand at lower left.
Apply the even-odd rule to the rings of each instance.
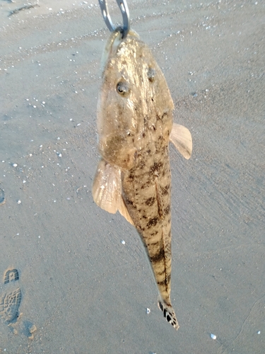
[[[20,287],[16,287],[16,282],[19,280],[18,270],[8,269],[4,274],[4,286],[6,294],[0,297],[0,316],[8,324],[16,322],[18,318],[18,309],[21,302]]]

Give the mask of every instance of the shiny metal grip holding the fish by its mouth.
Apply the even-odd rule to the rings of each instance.
[[[116,1],[117,1],[120,11],[122,12],[122,19],[123,19],[123,27],[121,27],[122,38],[126,38],[126,35],[128,34],[128,32],[130,30],[129,8],[127,6],[126,0],[116,0]],[[110,32],[116,30],[117,28],[114,27],[114,25],[112,23],[112,19],[110,18],[110,13],[107,8],[107,0],[98,0],[98,2],[100,3],[102,16],[103,16],[104,21],[107,25],[107,28],[109,28]]]

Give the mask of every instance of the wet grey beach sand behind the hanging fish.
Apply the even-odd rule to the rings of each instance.
[[[177,332],[136,230],[91,195],[98,2],[8,17],[23,4],[0,0],[0,353],[264,353],[264,2],[128,1],[194,139],[170,147]]]

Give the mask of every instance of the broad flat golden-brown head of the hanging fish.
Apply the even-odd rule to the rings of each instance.
[[[97,112],[100,153],[106,161],[131,169],[145,144],[143,132],[153,130],[158,119],[168,138],[174,105],[151,50],[135,32],[122,39],[122,33],[114,31],[103,64]]]

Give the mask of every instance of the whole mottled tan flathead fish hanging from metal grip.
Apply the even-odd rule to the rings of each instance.
[[[158,307],[179,328],[170,300],[171,172],[169,142],[189,159],[192,135],[173,123],[174,103],[151,50],[130,30],[114,30],[102,55],[97,128],[100,161],[93,199],[139,233],[158,286]]]

